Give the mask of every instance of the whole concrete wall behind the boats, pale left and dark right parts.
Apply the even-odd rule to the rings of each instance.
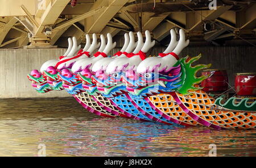
[[[164,51],[164,47],[155,47],[148,54],[154,55]],[[113,54],[118,51],[114,49]],[[1,49],[0,50],[0,98],[33,98],[71,96],[65,91],[49,91],[37,93],[27,79],[32,69],[40,69],[41,65],[56,59],[65,49]],[[196,64],[212,63],[211,68],[226,69],[229,83],[234,83],[234,73],[256,72],[255,47],[187,47],[180,54],[184,56],[202,57]]]

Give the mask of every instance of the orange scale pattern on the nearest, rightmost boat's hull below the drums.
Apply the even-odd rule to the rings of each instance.
[[[192,95],[176,93],[189,111],[221,128],[249,129],[256,126],[256,114],[246,111],[212,110],[216,108],[214,99],[202,90],[192,92]],[[205,125],[209,126],[209,125]]]

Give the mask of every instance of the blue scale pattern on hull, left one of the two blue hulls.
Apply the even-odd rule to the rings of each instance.
[[[119,111],[122,111],[127,116],[142,121],[152,121],[147,116],[143,115],[141,111],[137,110],[137,108],[130,102],[125,96],[125,94],[121,94],[115,96],[113,98],[109,98],[110,102],[114,104],[115,107],[118,108]]]

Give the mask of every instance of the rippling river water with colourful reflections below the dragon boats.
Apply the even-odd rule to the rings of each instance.
[[[209,144],[217,156],[256,156],[256,131],[108,119],[73,98],[0,100],[0,156],[208,156]]]

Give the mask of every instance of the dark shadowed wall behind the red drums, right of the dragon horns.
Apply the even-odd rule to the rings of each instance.
[[[152,53],[156,54],[155,49]],[[212,64],[211,69],[225,69],[231,86],[234,86],[236,73],[256,72],[256,47],[187,47],[183,49],[180,56],[195,57],[200,53],[202,57],[194,64]]]

